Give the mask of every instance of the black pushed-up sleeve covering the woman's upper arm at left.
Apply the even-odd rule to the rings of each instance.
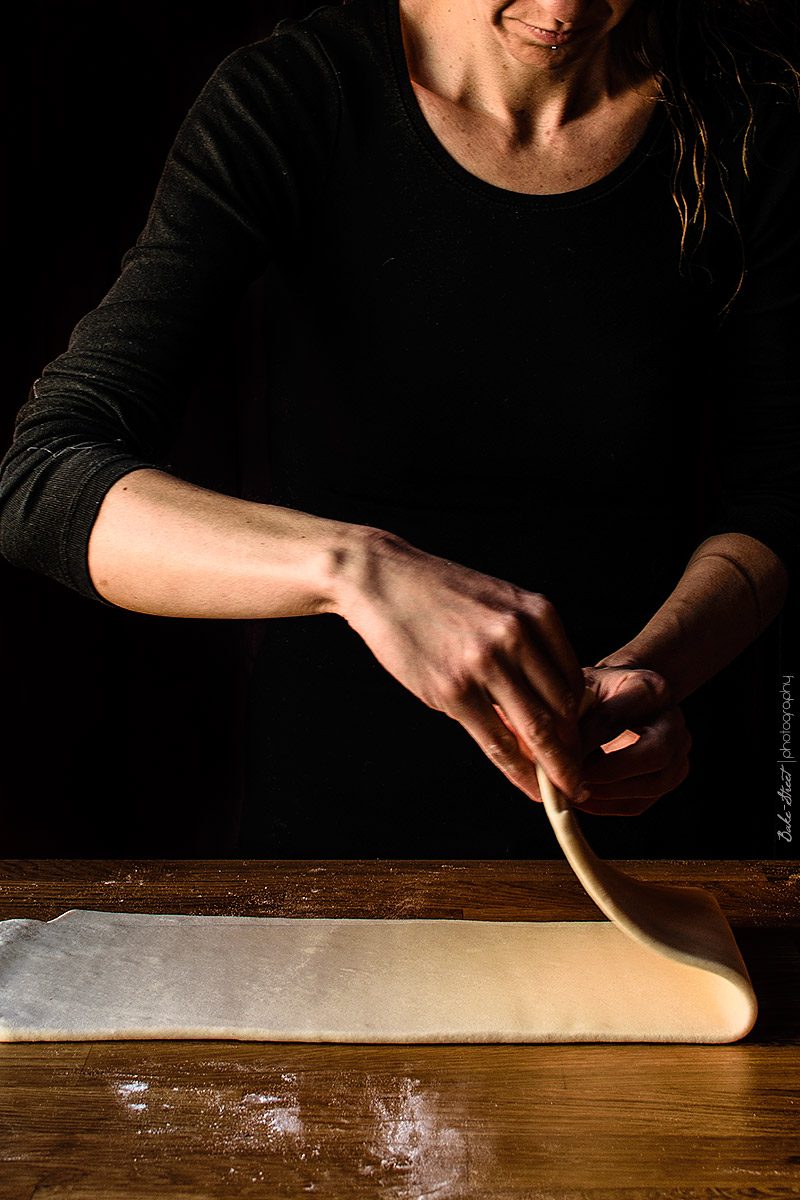
[[[95,596],[101,500],[169,462],[184,404],[242,295],[307,220],[336,142],[339,84],[313,38],[242,47],[203,89],[145,228],[103,301],[18,415],[0,464],[0,552]]]

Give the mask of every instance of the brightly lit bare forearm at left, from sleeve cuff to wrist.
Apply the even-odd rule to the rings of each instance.
[[[166,617],[301,617],[336,611],[360,526],[136,470],[107,493],[89,571],[112,604]]]

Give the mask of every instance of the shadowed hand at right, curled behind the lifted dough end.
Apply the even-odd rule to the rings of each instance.
[[[636,816],[688,774],[692,739],[682,713],[655,671],[588,667],[584,677],[596,698],[581,722],[591,792],[581,809]]]

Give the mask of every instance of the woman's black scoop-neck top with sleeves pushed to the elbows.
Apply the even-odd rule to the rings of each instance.
[[[103,496],[166,461],[215,329],[271,264],[284,318],[263,448],[275,503],[545,592],[583,661],[637,632],[714,532],[759,539],[792,571],[800,121],[764,89],[747,176],[739,118],[712,98],[706,118],[746,263],[724,320],[740,242],[712,214],[681,264],[663,112],[604,179],[518,194],[437,142],[392,0],[321,8],[237,52],[180,131],[119,281],[20,413],[0,476],[4,554],[97,595],[86,546]],[[263,661],[252,791],[281,815],[278,848],[296,842],[285,814],[302,830],[344,772],[342,846],[381,852],[379,827],[422,821],[408,796],[431,756],[451,797],[426,817],[437,828],[474,778],[481,796],[500,790],[507,821],[528,821],[467,734],[453,740],[337,618],[271,623]],[[319,764],[301,770],[299,719],[326,727]],[[378,820],[371,797],[398,752],[411,774]]]

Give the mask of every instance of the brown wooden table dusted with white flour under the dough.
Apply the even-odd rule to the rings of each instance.
[[[0,1200],[800,1196],[800,869],[619,865],[717,896],[760,1002],[744,1042],[2,1044]],[[600,916],[553,862],[0,863],[0,919],[74,907]]]

